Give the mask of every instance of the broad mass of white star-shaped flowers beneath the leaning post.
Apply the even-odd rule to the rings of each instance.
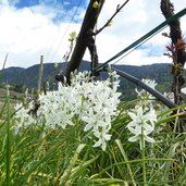
[[[39,96],[40,107],[36,117],[28,114],[34,102],[28,108],[17,104],[15,109],[20,110],[16,112],[16,127],[45,123],[46,128],[65,128],[74,125],[73,119],[78,116],[85,123],[84,132],[91,132],[97,139],[94,147],[106,150],[107,141],[111,138],[111,119],[116,114],[120,102],[117,87],[115,72],[110,72],[108,79],[102,82],[92,82],[88,72],[72,74],[71,86],[59,84],[58,90]]]

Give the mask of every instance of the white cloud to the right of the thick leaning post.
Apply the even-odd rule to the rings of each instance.
[[[111,13],[115,11],[116,4],[122,4],[122,2],[121,0],[115,0],[114,3],[113,1],[106,3],[101,12],[102,16],[99,20],[99,26],[103,25]],[[172,2],[175,4],[175,13],[185,8],[183,0],[172,0]],[[165,20],[161,13],[159,0],[131,0],[113,20],[113,26],[106,28],[103,33],[97,36],[100,61],[106,62],[163,21]],[[184,34],[186,33],[186,16],[181,18],[181,21]],[[169,28],[165,28],[161,33],[163,32],[169,33]],[[166,52],[165,45],[170,40],[163,37],[161,33],[142,45],[142,47],[149,47],[148,50],[139,48],[122,59],[119,63],[141,65],[171,62],[171,59],[163,55]],[[88,57],[86,55],[86,58]]]

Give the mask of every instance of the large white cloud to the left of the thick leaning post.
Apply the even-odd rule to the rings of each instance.
[[[5,3],[5,2],[4,2]],[[60,10],[62,11],[62,10]],[[83,12],[83,10],[82,10]],[[7,66],[29,66],[45,60],[60,61],[67,50],[67,35],[79,29],[73,24],[63,38],[69,23],[53,23],[57,12],[46,5],[15,9],[4,5],[0,10],[0,61],[9,52]],[[54,57],[53,57],[54,55]]]

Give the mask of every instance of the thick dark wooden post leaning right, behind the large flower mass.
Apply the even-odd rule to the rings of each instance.
[[[97,0],[97,2],[100,4],[99,8],[94,8],[94,3],[96,0],[90,0],[87,12],[84,17],[84,22],[82,24],[80,32],[77,37],[77,41],[74,48],[74,51],[72,53],[71,60],[67,64],[65,76],[66,82],[70,84],[70,75],[71,72],[74,72],[78,69],[82,59],[85,54],[85,50],[87,48],[87,40],[88,40],[88,34],[89,32],[94,30],[95,25],[97,23],[99,13],[101,11],[101,8],[104,3],[104,0]]]

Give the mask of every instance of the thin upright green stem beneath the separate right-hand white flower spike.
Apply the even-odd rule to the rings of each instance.
[[[146,157],[145,157],[145,139],[144,139],[144,128],[141,127],[141,158],[142,158],[142,177],[144,177],[144,186],[147,184],[146,177]]]

